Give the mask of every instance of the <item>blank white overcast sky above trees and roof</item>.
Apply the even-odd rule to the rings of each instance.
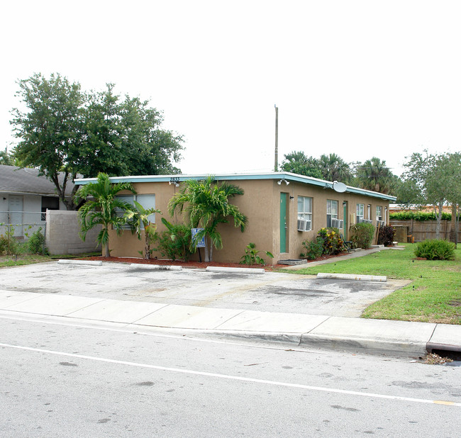
[[[284,154],[461,150],[461,2],[1,2],[0,147],[17,79],[151,99],[184,135],[183,173],[260,172]]]

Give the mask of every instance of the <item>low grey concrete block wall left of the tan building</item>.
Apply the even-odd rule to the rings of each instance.
[[[96,236],[101,227],[87,232],[85,241],[80,237],[80,223],[77,211],[47,210],[45,245],[50,254],[83,254],[101,251],[96,247]]]

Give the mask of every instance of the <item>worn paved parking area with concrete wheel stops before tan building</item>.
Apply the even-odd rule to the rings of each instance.
[[[154,271],[116,263],[88,266],[51,262],[0,270],[0,290],[4,291],[348,317],[360,316],[368,305],[406,283],[317,279],[275,272]]]

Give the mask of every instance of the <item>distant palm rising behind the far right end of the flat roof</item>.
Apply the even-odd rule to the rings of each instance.
[[[367,159],[357,166],[357,181],[362,189],[389,193],[394,184],[394,174],[378,157]]]

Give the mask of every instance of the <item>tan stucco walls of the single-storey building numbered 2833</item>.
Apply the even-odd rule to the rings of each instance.
[[[245,246],[253,242],[256,248],[261,251],[260,255],[265,258],[266,263],[276,263],[279,259],[298,258],[301,252],[301,243],[304,240],[311,240],[316,237],[320,228],[326,226],[326,201],[331,199],[338,201],[338,218],[343,218],[343,201],[348,203],[348,226],[350,225],[350,213],[355,215],[357,203],[365,206],[365,218],[367,219],[367,206],[371,205],[371,219],[376,220],[376,206],[389,208],[389,201],[379,198],[357,195],[353,193],[337,193],[333,189],[323,189],[323,187],[312,186],[291,182],[279,185],[274,179],[258,180],[239,180],[234,184],[240,186],[245,194],[233,198],[233,203],[240,208],[240,211],[247,215],[248,225],[245,232],[240,232],[240,228],[234,228],[233,222],[222,224],[219,230],[223,237],[223,249],[213,249],[213,261],[216,262],[238,262],[245,252]],[[162,215],[156,215],[157,230],[165,230],[160,219],[165,217],[170,222],[178,223],[182,219],[179,217],[171,218],[167,213],[167,204],[170,198],[178,190],[174,184],[167,182],[137,183],[133,184],[138,194],[155,193],[155,207],[162,211]],[[287,252],[280,253],[280,193],[287,193]],[[290,199],[290,196],[292,199]],[[313,198],[312,227],[308,232],[297,230],[297,197],[310,196]],[[176,215],[177,216],[177,215]],[[111,232],[110,237],[111,255],[116,257],[140,257],[138,251],[143,249],[143,241],[137,239],[129,230],[124,230],[121,236],[116,236]],[[203,258],[203,249],[202,258]],[[270,251],[274,254],[274,259],[264,257],[263,252]],[[160,254],[153,254],[161,257]],[[198,255],[196,254],[198,259]]]

